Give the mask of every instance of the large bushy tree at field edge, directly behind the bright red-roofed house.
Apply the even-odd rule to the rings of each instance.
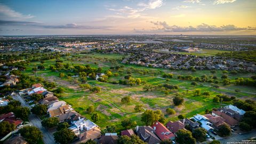
[[[155,121],[164,122],[164,115],[161,110],[145,110],[141,116],[141,121],[146,125],[152,125]]]

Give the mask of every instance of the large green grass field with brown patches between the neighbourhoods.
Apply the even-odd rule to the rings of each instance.
[[[91,65],[91,67],[101,67],[103,70],[109,69],[111,66],[125,66],[121,71],[113,70],[113,73],[118,73],[118,76],[112,76],[109,78],[109,81],[118,81],[123,79],[127,75],[127,71],[132,71],[132,77],[141,78],[142,81],[147,83],[157,85],[157,84],[173,84],[178,85],[180,89],[178,93],[185,98],[185,102],[181,106],[173,106],[172,98],[175,95],[175,91],[165,94],[161,91],[145,91],[143,90],[143,85],[114,85],[109,83],[102,83],[92,79],[88,79],[87,83],[91,85],[96,85],[102,87],[102,92],[100,93],[91,93],[89,90],[84,88],[79,88],[79,78],[67,77],[59,78],[60,72],[52,72],[49,69],[50,65],[54,65],[55,60],[46,60],[43,65],[45,70],[39,70],[37,72],[38,76],[44,77],[48,81],[53,81],[58,84],[58,86],[65,87],[65,92],[60,97],[60,100],[68,102],[73,108],[78,111],[81,115],[85,116],[88,119],[91,119],[91,114],[86,113],[86,108],[90,105],[93,105],[100,115],[100,120],[97,123],[100,127],[105,127],[110,124],[119,124],[120,121],[124,118],[132,118],[134,121],[137,121],[138,125],[143,125],[140,121],[141,113],[136,113],[134,111],[135,105],[142,105],[145,109],[161,109],[165,114],[166,119],[169,121],[175,121],[178,119],[178,115],[184,114],[186,117],[191,117],[195,114],[204,114],[206,109],[211,109],[214,107],[219,107],[219,103],[213,103],[212,99],[215,95],[223,93],[227,95],[234,95],[237,98],[255,98],[256,90],[254,87],[249,86],[236,86],[228,85],[223,86],[220,84],[220,89],[215,89],[210,86],[209,83],[199,83],[196,86],[191,85],[191,81],[182,81],[177,79],[177,75],[193,75],[193,76],[202,76],[202,75],[211,75],[209,70],[197,70],[196,72],[191,71],[181,71],[181,70],[169,70],[161,68],[147,68],[136,65],[124,65],[118,63],[116,60],[122,59],[123,55],[117,54],[77,54],[75,57],[62,57],[64,63],[70,63],[70,66],[80,64],[80,65]],[[27,66],[26,71],[29,75],[35,75],[31,70],[33,67],[40,65],[40,62],[31,62]],[[148,70],[148,73],[143,75],[139,71]],[[66,73],[61,71],[61,73]],[[170,81],[159,78],[163,73],[173,73],[174,78]],[[214,74],[220,80],[222,75],[221,71],[217,71],[217,74]],[[236,77],[250,77],[252,74],[238,74],[238,75],[229,75],[229,78],[234,81]],[[75,82],[76,80],[76,82]],[[77,83],[78,81],[78,83]],[[193,90],[201,89],[201,92],[209,91],[210,96],[194,96]],[[241,90],[240,92],[235,92],[235,89]],[[188,90],[188,91],[187,91]],[[130,95],[132,97],[132,102],[123,104],[121,98]],[[227,103],[228,104],[228,103]],[[176,111],[175,115],[167,115],[165,112],[166,108],[174,108]],[[166,121],[167,122],[167,121]]]

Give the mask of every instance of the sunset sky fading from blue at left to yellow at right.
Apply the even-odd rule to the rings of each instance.
[[[256,0],[0,0],[0,35],[255,35]]]

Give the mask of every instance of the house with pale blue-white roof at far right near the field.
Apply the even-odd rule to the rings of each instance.
[[[245,111],[243,109],[239,109],[233,105],[228,105],[226,107],[220,108],[219,110],[221,112],[235,118],[237,121],[239,121],[245,114]]]

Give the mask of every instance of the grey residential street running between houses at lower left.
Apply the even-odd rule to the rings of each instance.
[[[20,97],[20,95],[15,95],[13,97],[13,99],[19,100],[23,107],[28,107],[30,109],[30,106]],[[42,126],[40,118],[38,118],[34,114],[30,114],[29,121],[42,132],[43,141],[45,144],[54,144],[55,143],[53,135],[48,130],[46,130],[45,127]]]

